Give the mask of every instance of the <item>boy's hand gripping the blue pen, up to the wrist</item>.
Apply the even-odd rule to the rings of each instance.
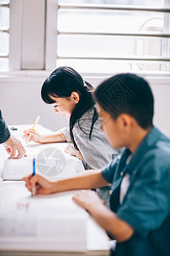
[[[38,174],[23,177],[22,180],[26,182],[26,188],[31,192],[34,191],[36,195],[48,195],[53,193],[53,183]]]

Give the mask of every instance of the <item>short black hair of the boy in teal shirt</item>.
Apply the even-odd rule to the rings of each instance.
[[[99,84],[94,98],[113,119],[127,113],[147,129],[152,126],[154,97],[148,82],[132,73],[121,73]]]

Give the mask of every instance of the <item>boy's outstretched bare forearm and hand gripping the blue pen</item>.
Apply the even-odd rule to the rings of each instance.
[[[95,189],[109,185],[105,179],[101,176],[101,171],[90,170],[75,177],[59,179],[56,182],[49,182],[47,179],[40,175],[24,177],[26,182],[26,188],[29,191],[36,188],[36,194],[48,195],[58,192],[64,192],[76,189]]]

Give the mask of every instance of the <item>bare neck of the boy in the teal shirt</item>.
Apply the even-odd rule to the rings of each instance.
[[[134,153],[134,151],[139,147],[139,144],[142,142],[144,137],[150,132],[152,127],[153,126],[148,128],[147,130],[142,129],[141,127],[139,127],[139,125],[135,127],[135,131],[133,131],[131,140],[129,142],[129,145],[127,146],[127,148],[129,148],[132,153]]]

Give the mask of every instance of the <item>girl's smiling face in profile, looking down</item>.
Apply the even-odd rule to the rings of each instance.
[[[75,97],[71,96],[68,98],[59,98],[50,96],[51,99],[54,101],[54,111],[56,113],[60,113],[62,116],[64,116],[66,119],[70,119],[71,113],[73,112],[74,108],[76,107],[77,102],[79,102],[77,99],[75,100]]]

